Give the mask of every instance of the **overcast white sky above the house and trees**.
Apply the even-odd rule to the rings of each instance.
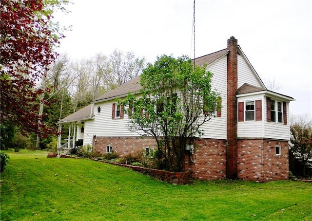
[[[153,63],[193,54],[193,0],[72,0],[61,25],[73,25],[58,51],[72,59],[114,49]],[[312,117],[312,0],[195,0],[195,56],[234,36],[262,80],[291,96],[290,111]]]

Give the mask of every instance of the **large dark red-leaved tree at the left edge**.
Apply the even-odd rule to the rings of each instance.
[[[38,123],[42,116],[37,99],[43,90],[37,83],[57,57],[53,49],[62,35],[51,15],[59,4],[58,0],[1,1],[1,122],[19,125],[22,131],[51,131]]]

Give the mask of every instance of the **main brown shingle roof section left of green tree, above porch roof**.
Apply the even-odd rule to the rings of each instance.
[[[126,95],[129,92],[138,92],[141,89],[140,79],[141,77],[137,76],[123,85],[118,86],[117,88],[103,94],[102,96],[99,96],[98,98],[94,99],[93,102],[106,100],[109,98],[116,98],[122,95]]]

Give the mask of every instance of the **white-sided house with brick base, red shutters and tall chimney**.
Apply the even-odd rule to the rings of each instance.
[[[294,99],[267,90],[234,37],[226,49],[198,57],[195,63],[208,64],[206,69],[214,73],[211,84],[221,95],[222,109],[202,125],[204,135],[195,139],[194,153],[186,154],[185,170],[200,180],[288,179],[289,103]],[[126,155],[156,147],[154,138],[127,129],[128,116],[116,102],[128,92],[138,93],[139,80],[107,92],[59,124],[73,125],[74,139],[83,137],[84,145],[92,144],[101,153]]]

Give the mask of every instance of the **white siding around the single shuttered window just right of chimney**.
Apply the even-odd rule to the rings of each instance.
[[[264,135],[264,103],[263,103],[263,94],[257,94],[254,96],[245,96],[239,97],[237,102],[243,101],[255,101],[255,100],[262,100],[262,121],[240,121],[237,122],[237,137],[238,138],[263,138]],[[244,106],[244,115],[245,115],[245,106]]]

